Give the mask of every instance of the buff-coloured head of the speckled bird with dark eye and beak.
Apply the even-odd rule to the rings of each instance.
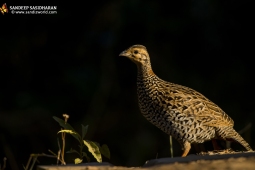
[[[150,65],[150,57],[143,45],[133,45],[120,53],[119,56],[125,56],[137,65]]]

